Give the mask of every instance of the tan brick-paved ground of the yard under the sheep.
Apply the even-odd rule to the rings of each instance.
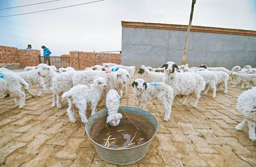
[[[140,77],[135,74],[133,79]],[[182,106],[185,97],[176,97],[171,119],[163,122],[165,110],[158,100],[147,103],[146,109],[157,117],[159,130],[148,154],[131,167],[151,166],[256,166],[256,143],[248,138],[248,127],[236,131],[243,120],[236,110],[236,99],[243,92],[240,85],[227,94],[212,91],[202,95],[196,109],[193,99]],[[37,93],[34,86],[32,92]],[[70,123],[66,114],[67,102],[62,109],[51,108],[52,97],[26,96],[26,106],[18,109],[13,96],[0,98],[0,164],[3,167],[96,167],[108,164],[96,154],[84,134],[84,124],[76,112],[76,123]],[[121,99],[122,106],[136,106],[132,86]],[[98,110],[105,108],[100,103]],[[90,116],[90,109],[87,117]]]

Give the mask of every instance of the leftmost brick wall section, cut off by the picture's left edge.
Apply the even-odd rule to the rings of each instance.
[[[0,46],[0,63],[19,63],[17,48]]]

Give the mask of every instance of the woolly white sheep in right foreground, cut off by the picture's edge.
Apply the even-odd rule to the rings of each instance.
[[[238,97],[236,108],[244,115],[244,121],[236,126],[236,130],[241,130],[248,124],[249,138],[252,141],[256,141],[256,87],[244,91]]]

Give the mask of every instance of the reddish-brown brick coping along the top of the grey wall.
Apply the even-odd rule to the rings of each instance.
[[[129,22],[129,21],[121,21],[121,25],[123,27],[134,27],[134,28],[145,28],[145,29],[169,29],[169,30],[180,30],[180,31],[187,31],[188,29],[188,26],[186,25],[143,23],[143,22]],[[256,31],[253,31],[253,30],[225,29],[225,28],[204,27],[204,26],[191,26],[190,31],[256,36]]]

